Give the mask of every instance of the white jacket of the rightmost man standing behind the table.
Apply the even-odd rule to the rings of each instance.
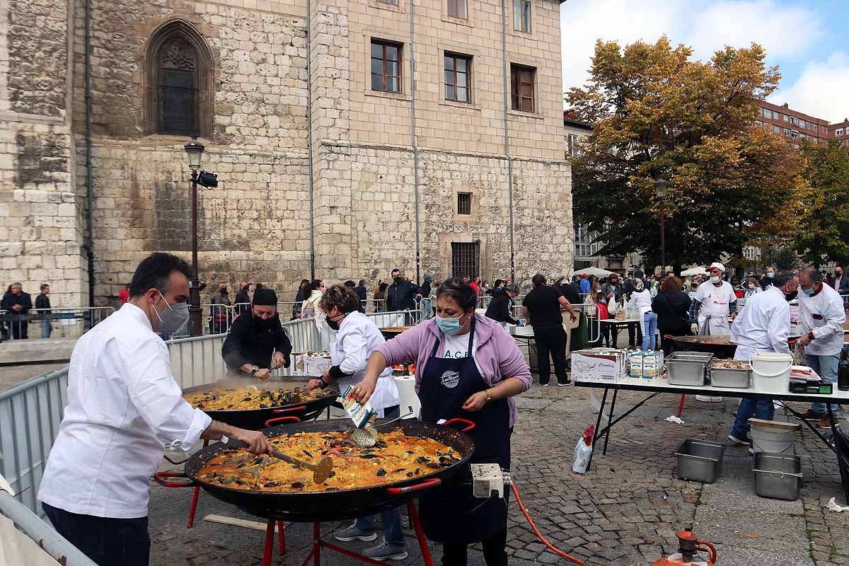
[[[805,346],[805,353],[812,356],[836,356],[843,348],[843,323],[846,311],[843,298],[823,284],[818,294],[808,296],[799,291],[799,322],[802,332],[813,333],[811,343]]]

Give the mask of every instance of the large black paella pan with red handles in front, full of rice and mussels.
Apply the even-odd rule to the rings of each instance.
[[[449,421],[449,423],[452,422]],[[463,423],[474,426],[468,421],[463,421]],[[220,472],[216,473],[216,462],[228,461],[228,466],[231,468],[233,465],[241,465],[242,467],[239,470],[244,470],[249,466],[260,466],[264,463],[264,458],[267,457],[251,456],[237,463],[237,460],[245,456],[242,451],[235,450],[221,442],[194,453],[186,462],[183,474],[160,472],[155,475],[155,479],[162,485],[176,486],[180,485],[179,482],[174,483],[167,478],[184,476],[189,480],[185,485],[200,485],[211,496],[223,502],[233,503],[245,512],[259,517],[285,518],[301,522],[323,522],[357,518],[398,507],[415,497],[418,490],[439,485],[443,481],[452,479],[460,470],[468,468],[467,464],[475,450],[475,444],[467,434],[449,426],[414,420],[402,421],[393,425],[393,427],[392,430],[395,432],[381,434],[381,440],[386,446],[389,446],[391,434],[395,434],[394,440],[408,442],[409,450],[413,451],[413,455],[403,464],[392,463],[390,465],[390,462],[396,462],[396,457],[390,457],[389,454],[383,455],[380,446],[370,449],[371,451],[368,451],[369,449],[356,449],[348,452],[348,445],[340,444],[340,442],[344,443],[346,436],[350,436],[351,421],[349,419],[297,423],[264,431],[264,434],[272,440],[272,444],[278,450],[283,451],[299,450],[300,446],[293,447],[290,444],[293,441],[296,443],[299,437],[303,437],[305,434],[318,434],[326,437],[328,443],[323,453],[309,451],[309,456],[307,456],[301,451],[299,454],[301,458],[305,461],[317,461],[319,458],[332,454],[335,462],[335,474],[347,473],[348,467],[345,458],[355,458],[358,460],[357,464],[368,460],[374,462],[374,466],[372,466],[374,468],[374,479],[372,481],[349,482],[349,478],[337,477],[334,478],[337,479],[336,482],[329,479],[329,485],[310,486],[309,480],[305,476],[298,479],[297,482],[290,481],[288,485],[281,481],[265,481],[264,479],[262,480],[263,484],[257,484],[254,480],[254,474],[242,472],[235,476],[236,478],[244,478],[242,484],[239,485],[234,479],[230,479],[232,474],[230,468],[226,470],[220,468]],[[334,440],[338,440],[338,442]],[[418,453],[416,446],[421,444],[420,440],[434,441],[438,446],[441,446],[439,451],[444,456],[440,457],[432,450],[424,451],[421,455],[416,456]],[[346,446],[346,453],[343,456],[337,456],[339,451],[335,450],[340,446]],[[291,464],[280,461],[275,461],[274,465],[287,468],[291,466]],[[265,464],[265,467],[270,466]],[[397,468],[402,467],[407,469],[402,473],[396,472]],[[381,470],[384,471],[384,474],[380,474]],[[409,474],[411,472],[412,474]],[[261,470],[259,473],[263,474]],[[287,474],[290,474],[290,472],[284,470],[278,477],[291,480]],[[293,470],[291,474],[297,474],[297,472]],[[330,485],[331,483],[334,485]],[[265,487],[266,484],[272,485]],[[469,487],[469,489],[471,488]]]

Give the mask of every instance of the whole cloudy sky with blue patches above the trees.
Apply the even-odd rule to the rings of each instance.
[[[849,117],[849,0],[567,0],[560,5],[564,88],[587,81],[599,37],[673,43],[709,59],[760,43],[781,83],[769,98],[830,122]]]

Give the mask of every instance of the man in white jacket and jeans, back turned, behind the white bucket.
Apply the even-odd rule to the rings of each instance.
[[[788,296],[794,294],[798,286],[799,279],[793,272],[779,272],[766,291],[751,295],[745,309],[731,326],[731,341],[737,344],[735,360],[748,361],[758,352],[790,354],[790,346],[787,345],[790,336]],[[774,414],[771,399],[744,397],[740,400],[734,429],[728,434],[728,440],[751,446],[747,421],[751,417],[770,421]]]

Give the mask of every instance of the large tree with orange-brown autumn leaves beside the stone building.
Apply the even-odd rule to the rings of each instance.
[[[756,127],[756,100],[778,84],[766,53],[724,48],[690,59],[666,36],[620,48],[597,42],[588,87],[566,99],[593,125],[572,161],[575,216],[599,233],[600,255],[638,251],[660,263],[656,177],[665,177],[666,262],[739,257],[783,211],[796,161],[785,143]]]

